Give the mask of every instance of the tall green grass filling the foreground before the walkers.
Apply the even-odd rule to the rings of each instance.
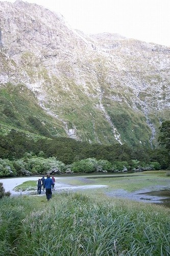
[[[0,255],[169,255],[170,210],[79,193],[0,200]]]

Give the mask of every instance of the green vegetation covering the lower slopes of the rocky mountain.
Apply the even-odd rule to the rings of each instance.
[[[41,71],[45,72],[45,69],[42,68]],[[68,137],[69,130],[75,129],[75,135],[81,141],[112,144],[117,142],[113,133],[115,127],[120,134],[120,140],[129,146],[140,144],[151,147],[152,131],[147,119],[140,109],[135,112],[131,108],[128,98],[130,96],[125,94],[123,88],[116,92],[102,80],[103,77],[99,77],[98,82],[102,89],[100,100],[99,92],[97,94],[94,88],[87,94],[83,86],[78,86],[74,80],[65,78],[63,84],[67,90],[63,90],[61,80],[55,76],[50,79],[50,85],[48,82],[43,84],[44,95],[48,94],[50,97],[43,103],[48,113],[54,113],[56,117],[41,108],[36,93],[34,94],[24,84],[14,86],[8,83],[0,88],[0,134],[7,134],[15,129],[35,138],[37,136],[53,138]],[[125,100],[113,101],[114,96],[123,97]],[[149,115],[152,123],[155,123],[157,132],[155,139],[152,140],[153,145],[157,144],[156,139],[159,135],[159,115],[162,120],[166,116],[162,113]]]

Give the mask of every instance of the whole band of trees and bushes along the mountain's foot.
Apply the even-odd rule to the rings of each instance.
[[[139,166],[166,169],[170,164],[169,138],[170,121],[162,123],[159,136],[160,146],[155,150],[142,146],[130,147],[127,144],[89,144],[63,137],[35,141],[25,133],[11,130],[8,135],[0,136],[0,173],[1,176],[8,176],[10,172],[14,176],[27,175],[23,170],[28,170],[32,174],[45,173],[55,166],[61,171],[67,170],[70,165],[74,172],[78,172],[78,170],[81,172],[83,169],[86,170],[85,172],[93,172],[99,166],[107,171],[120,170],[123,166],[129,170]],[[31,158],[37,162],[34,167],[27,165]],[[44,167],[46,162],[50,162],[47,159],[53,159],[51,164],[53,166]],[[54,159],[58,161],[57,164],[54,163]],[[95,159],[95,161],[89,159]],[[14,165],[12,166],[11,163]],[[61,168],[58,163],[62,163],[64,167]],[[10,165],[11,167],[8,167]]]

